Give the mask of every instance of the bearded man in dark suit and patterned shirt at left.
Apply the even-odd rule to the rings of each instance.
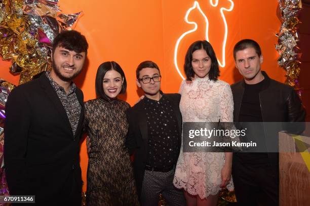
[[[35,195],[40,205],[81,205],[84,105],[72,79],[82,71],[87,49],[81,33],[59,33],[52,70],[9,95],[4,156],[11,195]]]

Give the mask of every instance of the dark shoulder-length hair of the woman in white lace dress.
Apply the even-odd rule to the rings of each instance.
[[[191,61],[192,61],[192,53],[196,50],[203,49],[207,52],[208,56],[211,59],[211,68],[209,71],[209,79],[210,80],[217,80],[219,76],[219,68],[218,62],[215,55],[215,52],[209,42],[206,40],[198,40],[197,42],[192,43],[185,55],[185,63],[184,63],[184,71],[186,75],[186,80],[191,81],[192,78],[195,76],[195,72],[192,69]]]

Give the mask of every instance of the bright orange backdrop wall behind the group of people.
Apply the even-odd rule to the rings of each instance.
[[[221,64],[225,56],[225,66],[220,67],[220,79],[229,84],[241,79],[235,68],[232,49],[243,38],[255,39],[261,46],[263,70],[276,80],[285,80],[284,70],[277,65],[278,54],[275,50],[275,34],[280,27],[276,0],[75,0],[74,4],[70,0],[60,0],[59,5],[65,13],[84,12],[75,29],[87,37],[89,54],[86,67],[75,82],[83,90],[85,101],[96,98],[94,85],[99,64],[111,60],[118,62],[125,71],[128,89],[122,99],[131,105],[141,94],[135,83],[135,69],[144,60],[158,63],[164,92],[178,92],[182,78],[176,65],[183,74],[186,49],[195,40],[206,38],[213,45]],[[178,49],[175,51],[178,39]],[[223,53],[224,39],[226,46]],[[9,66],[9,62],[0,61],[0,78],[18,84],[19,76],[12,75]],[[85,183],[87,162],[84,141],[81,146],[81,167]],[[86,184],[83,190],[86,190]]]

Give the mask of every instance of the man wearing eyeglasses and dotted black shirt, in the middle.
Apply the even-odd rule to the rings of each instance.
[[[160,91],[161,73],[152,61],[140,63],[136,76],[145,97],[127,112],[126,146],[134,154],[139,200],[142,206],[156,206],[162,193],[169,205],[185,205],[182,191],[172,183],[181,147],[181,96]]]

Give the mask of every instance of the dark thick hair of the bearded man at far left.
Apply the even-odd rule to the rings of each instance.
[[[64,30],[60,32],[53,41],[53,54],[56,47],[63,47],[76,53],[85,52],[87,54],[88,43],[84,35],[74,30]]]

